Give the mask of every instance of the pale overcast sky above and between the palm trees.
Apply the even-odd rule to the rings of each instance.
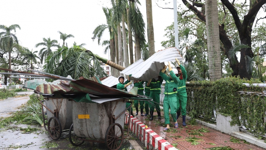
[[[164,6],[164,1],[157,3]],[[2,1],[1,5],[0,24],[6,26],[20,25],[21,30],[16,31],[16,36],[20,44],[30,50],[40,50],[41,46],[38,48],[34,46],[39,42],[43,42],[43,38],[48,37],[56,39],[62,45],[63,42],[57,32],[60,31],[75,36],[75,38],[69,38],[65,41],[68,46],[73,45],[74,41],[77,44],[86,43],[85,48],[108,58],[107,55],[103,54],[104,48],[99,46],[97,41],[92,42],[91,38],[96,26],[106,23],[102,7],[111,8],[110,0],[7,0]],[[141,0],[141,5],[140,10],[147,28],[144,0]],[[161,46],[161,42],[167,40],[166,37],[163,37],[164,29],[174,22],[174,12],[173,9],[159,8],[154,0],[152,9],[155,51],[157,51],[164,49]],[[145,34],[147,39],[147,32]],[[109,39],[108,31],[103,34],[102,38]]]

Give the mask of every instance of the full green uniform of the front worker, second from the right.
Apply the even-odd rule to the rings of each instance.
[[[160,72],[161,77],[166,81],[164,85],[164,123],[170,124],[169,118],[169,108],[171,109],[170,114],[173,118],[173,121],[177,121],[177,107],[179,108],[180,103],[177,101],[177,87],[179,84],[179,78],[171,70],[171,78]]]

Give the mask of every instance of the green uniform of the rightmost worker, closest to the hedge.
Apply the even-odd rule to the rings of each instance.
[[[185,67],[183,65],[179,65],[182,74],[183,74],[183,79],[180,79],[178,88],[177,88],[177,100],[181,104],[181,113],[182,116],[187,115],[187,90],[186,90],[186,81],[187,81],[187,71],[185,70]],[[180,78],[180,75],[178,76]],[[177,110],[179,110],[179,107],[177,107]]]

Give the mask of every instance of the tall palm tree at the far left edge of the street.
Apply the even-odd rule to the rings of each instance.
[[[4,30],[3,32],[0,32],[0,36],[7,36],[4,38],[1,38],[0,40],[0,44],[1,47],[8,51],[8,64],[9,64],[9,69],[11,70],[11,52],[13,49],[13,40],[15,40],[16,43],[18,43],[18,38],[11,33],[12,30],[14,30],[14,32],[16,32],[16,28],[20,29],[20,26],[17,24],[14,25],[10,25],[9,27],[5,26],[5,25],[0,25],[0,29]],[[11,36],[10,36],[11,35]],[[11,78],[9,79],[9,83],[11,84]]]

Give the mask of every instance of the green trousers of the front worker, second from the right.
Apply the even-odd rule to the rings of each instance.
[[[173,122],[177,121],[177,106],[178,108],[180,103],[177,101],[177,96],[164,96],[164,124],[170,124],[170,118],[169,118],[169,108],[170,108],[170,114],[173,118]]]

